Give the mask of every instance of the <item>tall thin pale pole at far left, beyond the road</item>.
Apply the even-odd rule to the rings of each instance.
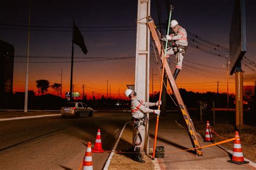
[[[29,90],[29,45],[30,45],[30,0],[29,0],[29,23],[28,23],[28,46],[26,49],[26,86],[24,112],[28,112],[28,90]]]

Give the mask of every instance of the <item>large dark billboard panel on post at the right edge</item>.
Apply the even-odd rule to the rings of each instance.
[[[246,52],[245,0],[234,0],[230,28],[230,74],[240,65]]]

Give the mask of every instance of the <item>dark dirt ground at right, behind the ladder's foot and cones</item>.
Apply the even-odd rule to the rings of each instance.
[[[178,122],[185,127],[184,120],[179,119]],[[193,121],[196,131],[205,138],[206,123],[200,123],[199,121]],[[220,137],[231,139],[234,138],[235,128],[230,123],[217,123],[215,127],[210,124],[211,129],[217,133]],[[223,141],[218,135],[212,132],[214,142]],[[244,125],[242,132],[240,134],[242,153],[245,158],[256,162],[256,127]],[[227,142],[221,144],[227,150],[233,151],[234,142]]]

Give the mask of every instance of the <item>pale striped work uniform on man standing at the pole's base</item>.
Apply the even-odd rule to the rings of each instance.
[[[137,124],[138,126],[134,128],[134,131],[133,131],[133,145],[135,147],[142,147],[142,141],[145,139],[144,114],[147,112],[154,113],[154,110],[149,108],[150,106],[156,106],[156,103],[145,102],[143,100],[138,100],[138,99],[131,100],[132,117],[138,123]]]

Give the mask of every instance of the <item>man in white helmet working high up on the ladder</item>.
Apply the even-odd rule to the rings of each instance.
[[[182,69],[183,58],[187,50],[187,32],[175,19],[171,21],[171,28],[173,33],[171,33],[171,35],[166,35],[165,38],[169,41],[174,40],[175,45],[167,49],[166,58],[168,64],[171,65],[169,55],[176,54],[176,69],[173,73],[173,78],[176,80],[180,70]]]

